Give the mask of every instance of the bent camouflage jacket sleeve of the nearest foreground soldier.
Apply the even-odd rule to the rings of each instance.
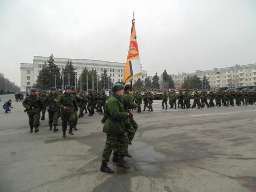
[[[128,113],[119,111],[118,101],[113,100],[111,102],[108,102],[107,105],[108,105],[108,112],[113,119],[122,120],[129,117]]]

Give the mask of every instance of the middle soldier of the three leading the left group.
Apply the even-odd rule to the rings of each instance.
[[[58,131],[58,116],[60,108],[57,105],[58,101],[58,94],[56,92],[55,87],[50,88],[50,93],[46,96],[46,103],[47,103],[47,111],[49,115],[49,131],[52,131],[52,124],[53,124],[53,131]]]

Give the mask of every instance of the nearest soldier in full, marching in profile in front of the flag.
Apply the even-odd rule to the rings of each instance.
[[[103,118],[105,120],[102,121],[102,123],[104,123],[103,132],[107,134],[107,139],[102,153],[102,165],[100,171],[106,173],[114,172],[107,165],[113,149],[117,151],[116,163],[124,168],[130,168],[123,160],[123,157],[125,157],[127,153],[129,142],[129,139],[125,134],[124,120],[129,118],[132,111],[129,110],[128,113],[124,110],[122,99],[124,87],[122,84],[114,84],[112,92],[113,94],[106,105],[105,118]]]

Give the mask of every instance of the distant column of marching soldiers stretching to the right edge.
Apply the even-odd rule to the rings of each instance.
[[[167,91],[163,93],[162,106],[164,109],[164,104],[167,109]],[[214,108],[215,106],[240,106],[240,105],[253,105],[256,102],[256,90],[216,90],[209,91],[206,90],[180,90],[175,92],[175,90],[169,91],[169,108]],[[193,99],[192,105],[190,100]],[[176,107],[177,106],[177,107]]]

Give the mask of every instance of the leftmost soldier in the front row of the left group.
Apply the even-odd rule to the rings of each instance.
[[[22,102],[23,107],[26,108],[25,112],[27,112],[29,116],[29,133],[33,132],[33,128],[35,128],[35,133],[39,131],[38,127],[40,124],[40,112],[43,105],[40,97],[37,95],[37,92],[38,90],[32,88],[31,94],[29,96],[26,96],[26,98]]]

